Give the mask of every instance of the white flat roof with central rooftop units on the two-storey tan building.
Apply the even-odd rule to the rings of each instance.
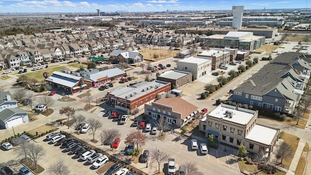
[[[232,118],[226,117],[225,112],[232,111]],[[210,111],[208,116],[215,117],[218,119],[223,119],[223,121],[229,121],[238,124],[247,124],[254,117],[256,111],[244,109],[244,108],[236,108],[236,106],[220,104],[214,110]]]

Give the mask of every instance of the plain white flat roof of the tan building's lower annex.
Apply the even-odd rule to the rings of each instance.
[[[276,133],[277,129],[255,124],[245,139],[263,143],[265,145],[270,145],[276,136]]]

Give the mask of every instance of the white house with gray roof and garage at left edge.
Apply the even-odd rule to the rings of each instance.
[[[17,105],[10,91],[0,93],[0,128],[10,128],[28,121],[27,111]]]

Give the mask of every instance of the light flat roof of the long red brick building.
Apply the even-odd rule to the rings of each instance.
[[[154,91],[157,88],[161,88],[169,84],[168,82],[163,82],[159,80],[154,80],[151,82],[140,82],[134,86],[116,88],[110,92],[110,94],[116,97],[128,100],[134,100],[138,97],[145,95],[148,92]],[[148,89],[147,89],[148,88]]]

